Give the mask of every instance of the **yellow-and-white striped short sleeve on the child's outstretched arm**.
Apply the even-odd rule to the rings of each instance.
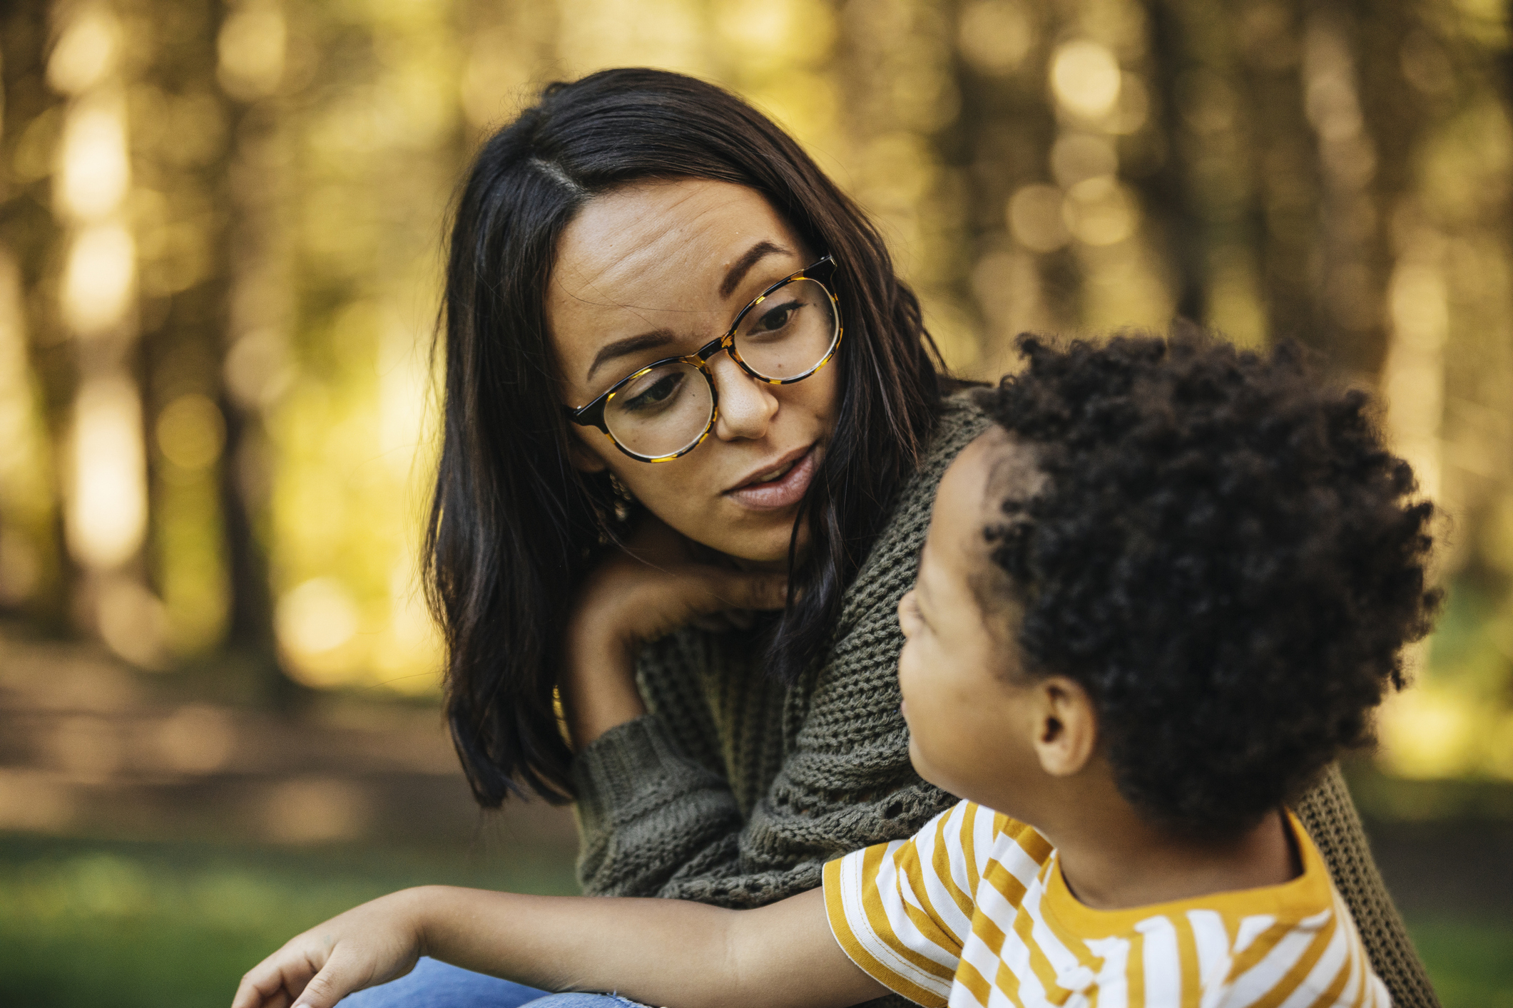
[[[977,852],[994,813],[964,801],[908,840],[879,843],[825,866],[831,932],[868,976],[909,1000],[943,1008],[971,932]]]

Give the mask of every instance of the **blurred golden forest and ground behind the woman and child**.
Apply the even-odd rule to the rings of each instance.
[[[545,82],[655,65],[747,97],[876,215],[964,375],[1012,367],[1024,329],[1182,316],[1381,393],[1445,509],[1449,594],[1353,780],[1398,824],[1384,869],[1496,866],[1389,881],[1446,1002],[1513,1003],[1508,23],[1502,0],[5,5],[0,994],[206,1003],[407,880],[570,887],[570,822],[480,840],[436,724],[430,339],[480,139]]]

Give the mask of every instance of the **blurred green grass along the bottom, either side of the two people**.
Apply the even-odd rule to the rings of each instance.
[[[567,852],[0,837],[0,1005],[218,1008],[298,931],[421,883],[570,893]],[[1513,1008],[1513,920],[1410,920],[1445,1008]]]

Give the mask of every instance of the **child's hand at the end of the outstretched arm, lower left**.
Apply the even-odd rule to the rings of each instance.
[[[333,1008],[404,976],[422,954],[415,904],[416,893],[398,892],[295,935],[242,976],[231,1008]]]

